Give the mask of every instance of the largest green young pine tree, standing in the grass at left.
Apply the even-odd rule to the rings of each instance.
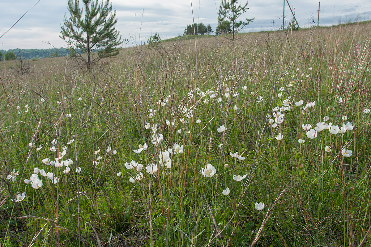
[[[66,40],[69,47],[74,47],[79,60],[86,64],[88,70],[91,65],[105,58],[116,56],[121,48],[116,48],[124,40],[115,29],[117,23],[116,10],[112,11],[109,0],[105,3],[98,0],[82,0],[80,8],[79,0],[68,0],[70,16],[60,26],[60,36]],[[92,52],[98,51],[93,57]],[[86,56],[82,54],[86,53]]]

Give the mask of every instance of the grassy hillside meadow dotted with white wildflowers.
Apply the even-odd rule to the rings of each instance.
[[[370,246],[370,32],[0,62],[0,245]]]

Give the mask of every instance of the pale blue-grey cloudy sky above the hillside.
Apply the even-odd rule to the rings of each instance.
[[[217,12],[221,0],[111,0],[118,19],[116,28],[132,46],[147,41],[157,32],[161,39],[183,34],[185,27],[193,23],[217,26]],[[3,35],[37,0],[1,0],[0,32]],[[246,3],[245,1],[240,1]],[[318,1],[289,0],[300,27],[317,21]],[[249,0],[250,9],[243,18],[255,18],[243,31],[272,30],[282,26],[283,0]],[[60,23],[67,12],[67,0],[40,0],[1,39],[0,49],[49,49],[65,47],[59,38]],[[69,14],[68,14],[69,15]],[[285,16],[292,18],[286,3]],[[322,0],[319,13],[321,26],[337,25],[348,21],[370,20],[371,0]],[[0,36],[1,36],[0,35]],[[48,44],[50,43],[50,44]]]

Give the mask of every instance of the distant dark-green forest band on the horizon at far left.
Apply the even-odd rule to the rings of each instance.
[[[10,49],[10,50],[0,50],[0,53],[3,55],[7,52],[13,52],[14,55],[19,58],[22,56],[22,59],[43,59],[46,57],[63,57],[67,56],[67,49],[60,47],[59,49]],[[19,52],[20,51],[20,52]],[[71,51],[69,51],[70,53]]]

